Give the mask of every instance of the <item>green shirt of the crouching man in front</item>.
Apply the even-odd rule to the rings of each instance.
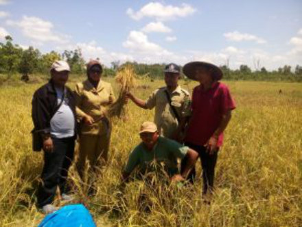
[[[183,159],[188,150],[189,147],[161,136],[152,151],[149,151],[141,142],[130,153],[124,171],[131,173],[136,166],[139,166],[140,172],[146,173],[146,171],[156,171],[156,166],[160,165],[172,176],[178,173],[177,158]]]

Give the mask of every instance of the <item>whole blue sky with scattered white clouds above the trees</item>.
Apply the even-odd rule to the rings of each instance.
[[[86,61],[207,61],[237,69],[302,65],[302,0],[0,0],[6,35]]]

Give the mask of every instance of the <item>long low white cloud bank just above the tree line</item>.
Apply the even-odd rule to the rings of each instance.
[[[268,70],[277,69],[283,65],[295,65],[301,62],[301,57],[292,54],[271,54],[261,49],[241,50],[233,46],[225,47],[216,52],[190,51],[187,53],[170,52],[156,43],[152,43],[146,34],[131,31],[128,39],[123,43],[125,52],[111,52],[105,50],[96,41],[89,43],[73,43],[60,45],[57,50],[75,50],[80,48],[86,61],[89,58],[100,58],[107,67],[111,62],[136,61],[138,63],[170,63],[184,65],[189,61],[208,61],[216,65],[229,65],[231,69],[238,69],[240,65],[248,65],[251,69],[266,67]]]

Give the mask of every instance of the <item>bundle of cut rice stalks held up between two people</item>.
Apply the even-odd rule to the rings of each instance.
[[[125,96],[126,93],[136,86],[137,74],[132,65],[125,65],[121,67],[115,76],[115,81],[119,85],[119,97],[117,101],[111,105],[109,109],[110,116],[117,116],[118,118],[126,119]]]

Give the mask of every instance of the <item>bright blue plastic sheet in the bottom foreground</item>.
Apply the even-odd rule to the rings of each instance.
[[[96,227],[89,210],[82,204],[63,206],[47,215],[38,227]]]

